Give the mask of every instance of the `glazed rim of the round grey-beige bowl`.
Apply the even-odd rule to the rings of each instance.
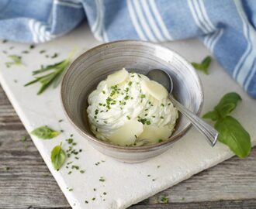
[[[170,48],[168,48],[167,46],[161,46],[158,43],[151,43],[148,41],[143,41],[143,40],[136,40],[136,39],[125,39],[125,40],[117,40],[117,41],[112,41],[109,43],[102,43],[100,45],[94,46],[91,49],[85,51],[84,53],[81,53],[78,57],[75,58],[75,60],[72,61],[72,63],[67,67],[67,70],[65,71],[64,77],[61,81],[61,89],[60,89],[60,94],[61,94],[61,106],[64,110],[64,114],[67,116],[69,122],[71,122],[71,125],[73,125],[73,127],[86,139],[88,139],[88,142],[90,142],[90,140],[92,142],[97,143],[99,146],[105,146],[108,147],[109,149],[118,149],[119,151],[122,152],[149,152],[150,150],[155,150],[155,149],[161,149],[162,147],[166,147],[166,146],[171,146],[173,143],[177,142],[178,139],[181,139],[181,137],[183,135],[185,135],[185,133],[187,133],[189,131],[189,129],[192,127],[192,123],[189,122],[188,125],[185,126],[185,128],[178,133],[177,135],[171,136],[171,138],[169,138],[168,140],[164,141],[164,142],[158,142],[156,144],[153,145],[149,145],[149,146],[117,146],[114,144],[110,144],[109,142],[105,142],[102,141],[100,139],[97,139],[95,136],[92,135],[88,135],[88,133],[86,131],[84,131],[82,128],[79,128],[78,125],[76,125],[73,120],[71,119],[71,116],[68,114],[66,107],[64,105],[64,84],[67,82],[67,76],[68,74],[71,73],[73,66],[76,63],[79,63],[80,60],[83,59],[83,57],[85,57],[87,54],[91,53],[94,50],[98,50],[104,46],[108,46],[109,44],[116,44],[116,43],[138,43],[138,44],[142,44],[142,45],[148,45],[148,46],[154,46],[154,47],[158,47],[158,48],[162,48],[164,50],[169,50],[172,53],[175,53],[175,55],[177,55],[183,63],[185,63],[186,65],[189,65],[189,67],[192,69],[192,73],[195,74],[195,77],[197,78],[197,80],[199,81],[199,87],[200,87],[200,91],[199,91],[199,96],[201,98],[201,102],[199,104],[199,109],[198,111],[195,112],[196,115],[199,115],[200,112],[202,111],[202,105],[204,102],[204,95],[203,95],[203,91],[202,91],[202,81],[199,78],[199,75],[197,74],[197,72],[195,71],[195,68],[192,67],[192,64],[186,60],[184,57],[182,57],[179,53],[177,53],[175,50],[171,50]]]

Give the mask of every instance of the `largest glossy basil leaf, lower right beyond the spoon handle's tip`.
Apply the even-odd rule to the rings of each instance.
[[[214,125],[220,132],[218,140],[223,142],[239,157],[244,158],[251,152],[251,137],[237,120],[227,116]]]

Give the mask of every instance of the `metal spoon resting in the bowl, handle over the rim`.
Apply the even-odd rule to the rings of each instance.
[[[157,81],[159,84],[162,84],[164,87],[166,87],[169,92],[168,98],[171,100],[173,105],[175,105],[175,107],[178,108],[178,110],[189,119],[192,125],[194,125],[195,128],[199,130],[199,132],[206,136],[209,144],[211,146],[214,146],[216,144],[219,133],[211,125],[204,122],[201,118],[199,118],[199,116],[195,115],[195,113],[193,113],[192,111],[189,111],[189,109],[185,108],[181,103],[173,98],[173,96],[171,95],[171,91],[173,88],[171,76],[164,70],[154,69],[150,70],[147,73],[147,77],[149,77],[153,81]]]

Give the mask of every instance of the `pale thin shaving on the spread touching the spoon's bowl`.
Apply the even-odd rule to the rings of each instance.
[[[158,101],[168,97],[168,91],[156,81],[141,81],[141,88]]]

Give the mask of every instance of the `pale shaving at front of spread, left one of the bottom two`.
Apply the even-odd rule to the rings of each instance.
[[[137,120],[131,120],[122,127],[116,129],[116,131],[110,135],[109,140],[119,146],[130,146],[142,132],[142,123]]]

